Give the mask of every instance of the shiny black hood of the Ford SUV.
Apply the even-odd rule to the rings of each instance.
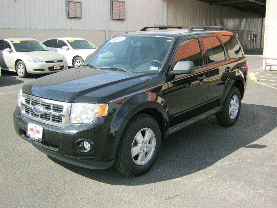
[[[103,96],[127,89],[153,76],[155,74],[78,67],[31,81],[23,92],[56,101],[97,103]]]

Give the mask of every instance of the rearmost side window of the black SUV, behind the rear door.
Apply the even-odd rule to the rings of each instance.
[[[243,56],[242,49],[234,36],[222,36],[222,41],[231,59]]]

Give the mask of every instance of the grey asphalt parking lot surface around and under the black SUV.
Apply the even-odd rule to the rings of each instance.
[[[12,118],[18,90],[43,75],[2,71],[0,207],[277,207],[277,76],[261,72],[260,57],[247,55],[259,83],[248,80],[234,126],[210,116],[178,131],[136,178],[64,163],[19,138]]]

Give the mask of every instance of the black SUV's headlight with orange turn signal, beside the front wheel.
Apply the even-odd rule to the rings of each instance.
[[[70,122],[89,123],[97,117],[106,116],[108,104],[72,103]]]

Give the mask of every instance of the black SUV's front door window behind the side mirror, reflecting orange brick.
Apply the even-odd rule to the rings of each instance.
[[[191,61],[195,67],[203,65],[198,39],[181,42],[174,57],[174,62],[177,63],[178,61]]]

